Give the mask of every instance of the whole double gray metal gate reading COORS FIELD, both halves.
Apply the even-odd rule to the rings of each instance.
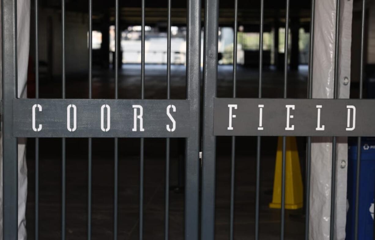
[[[281,239],[284,239],[285,222],[285,136],[309,136],[307,146],[306,216],[309,216],[309,177],[311,162],[311,136],[333,136],[332,162],[336,161],[336,136],[375,136],[375,130],[368,128],[375,118],[374,100],[338,100],[339,56],[335,55],[335,100],[312,99],[312,59],[314,45],[310,46],[310,67],[308,95],[306,100],[287,98],[288,83],[288,37],[285,37],[284,99],[262,98],[262,59],[259,56],[259,98],[236,98],[236,59],[237,59],[237,15],[235,0],[234,23],[234,64],[233,98],[216,98],[217,79],[217,40],[218,40],[218,0],[205,0],[204,21],[204,70],[203,70],[203,124],[202,124],[202,168],[201,202],[199,214],[199,107],[200,107],[200,39],[201,2],[187,1],[187,75],[186,100],[170,99],[170,42],[171,42],[171,0],[168,0],[168,94],[165,100],[144,99],[145,69],[145,3],[142,1],[142,61],[139,100],[118,99],[118,69],[115,68],[115,99],[92,98],[92,0],[89,0],[89,98],[65,98],[65,0],[62,0],[62,99],[40,99],[39,77],[36,75],[36,99],[19,99],[17,96],[17,6],[16,0],[2,0],[2,39],[3,39],[3,237],[17,239],[18,212],[18,167],[17,138],[36,138],[36,233],[38,239],[38,167],[40,137],[62,138],[62,239],[65,239],[65,138],[85,137],[89,139],[89,197],[88,197],[88,239],[91,237],[91,150],[92,137],[114,138],[114,239],[117,239],[117,163],[118,137],[140,138],[140,196],[139,196],[139,239],[142,239],[143,218],[143,164],[144,138],[167,138],[166,146],[166,191],[165,191],[165,233],[168,233],[168,186],[169,186],[169,138],[186,138],[186,188],[185,188],[185,239],[214,239],[215,215],[215,138],[232,136],[231,158],[231,212],[230,239],[233,239],[234,224],[234,164],[235,136],[258,136],[257,144],[257,182],[255,202],[255,239],[259,237],[259,197],[261,136],[283,137],[282,161],[282,203]],[[264,0],[261,1],[260,49],[263,49]],[[286,32],[289,29],[290,0],[286,1]],[[337,0],[340,9],[341,0]],[[35,0],[36,26],[38,1]],[[363,39],[365,22],[365,0],[362,5],[362,48],[361,67],[363,68]],[[312,0],[311,42],[314,39],[315,0]],[[339,44],[339,14],[336,12],[336,45]],[[118,36],[118,0],[115,0],[115,26]],[[36,27],[36,49],[38,48]],[[286,34],[286,36],[288,36]],[[115,66],[118,66],[118,41],[115,47]],[[38,51],[36,51],[38,52]],[[38,56],[36,54],[36,60]],[[38,73],[36,61],[36,73]],[[360,98],[362,98],[363,69],[360,77]],[[336,121],[332,121],[335,119]],[[341,119],[341,120],[338,120]],[[358,138],[360,146],[360,138]],[[358,148],[360,150],[360,148]],[[360,151],[357,160],[356,230],[358,228],[358,198]],[[332,202],[335,203],[335,164],[332,165]],[[331,207],[331,216],[334,216]],[[199,218],[200,215],[200,218]],[[331,233],[335,219],[331,218]],[[200,227],[199,227],[200,225]],[[308,239],[309,218],[306,218],[306,237]],[[333,234],[330,234],[333,239]],[[168,239],[166,234],[165,239]]]

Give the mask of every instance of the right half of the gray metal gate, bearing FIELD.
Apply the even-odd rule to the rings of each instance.
[[[306,160],[306,216],[309,216],[310,204],[310,167],[311,136],[332,136],[332,182],[331,182],[331,214],[335,216],[335,176],[336,176],[336,136],[373,136],[375,132],[369,126],[374,119],[374,100],[346,99],[339,100],[339,33],[341,0],[336,0],[336,33],[335,33],[335,75],[334,98],[312,99],[312,76],[314,44],[310,44],[309,82],[307,99],[288,99],[288,34],[285,34],[284,56],[284,99],[262,98],[263,82],[263,27],[264,0],[260,0],[260,55],[259,55],[259,89],[258,98],[236,98],[237,78],[237,19],[238,0],[234,0],[234,48],[233,48],[233,98],[217,98],[217,32],[219,19],[219,1],[205,1],[204,22],[204,70],[203,70],[203,161],[202,161],[202,193],[201,193],[201,239],[210,240],[215,236],[215,170],[216,170],[216,136],[232,136],[231,145],[231,194],[229,216],[229,239],[234,239],[234,188],[236,136],[257,137],[257,169],[255,200],[255,239],[259,239],[260,212],[260,166],[261,136],[284,136],[282,141],[282,194],[281,194],[281,226],[280,238],[285,232],[285,154],[286,136],[308,136]],[[286,0],[285,33],[290,24],[290,0]],[[310,42],[314,42],[315,0],[311,6]],[[360,99],[363,90],[363,41],[365,27],[365,0],[362,1],[362,45]],[[323,113],[324,111],[324,113]],[[325,116],[324,116],[325,115]],[[323,119],[324,118],[324,119]],[[375,120],[375,119],[374,119]],[[358,137],[357,153],[357,192],[355,236],[358,237],[358,203],[360,145]],[[335,218],[330,218],[330,239],[334,239]],[[306,217],[305,239],[309,239],[309,217]]]

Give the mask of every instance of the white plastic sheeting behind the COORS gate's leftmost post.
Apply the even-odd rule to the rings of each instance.
[[[1,5],[0,5],[1,10]],[[1,16],[1,11],[0,11]],[[1,17],[0,17],[1,19]],[[1,20],[0,20],[1,22]],[[1,30],[1,24],[0,24]],[[26,97],[27,65],[30,45],[30,0],[17,0],[18,96]],[[0,35],[1,43],[1,35]],[[0,72],[2,73],[0,48]],[[2,95],[0,74],[0,97]],[[26,240],[27,166],[26,139],[18,139],[18,239]],[[3,239],[3,137],[0,134],[0,240]]]

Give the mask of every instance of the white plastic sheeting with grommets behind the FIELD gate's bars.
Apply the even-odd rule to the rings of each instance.
[[[335,74],[336,0],[316,0],[313,97],[333,98]],[[349,98],[353,1],[341,1],[338,97]],[[335,239],[345,239],[347,212],[347,137],[337,138]],[[313,137],[311,146],[311,194],[309,239],[330,239],[331,137]]]

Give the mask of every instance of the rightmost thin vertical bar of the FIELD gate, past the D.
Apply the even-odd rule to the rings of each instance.
[[[361,66],[359,80],[359,99],[363,97],[363,62],[365,48],[365,16],[366,16],[366,0],[362,0],[362,29],[361,29]],[[356,215],[354,219],[354,239],[358,240],[358,218],[359,218],[359,181],[361,173],[361,137],[358,137],[357,145],[357,175],[356,175]]]

